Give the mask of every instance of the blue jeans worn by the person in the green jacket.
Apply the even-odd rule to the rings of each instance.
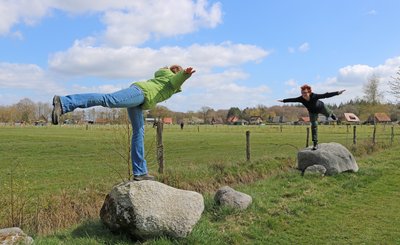
[[[133,175],[147,174],[147,163],[144,159],[144,118],[141,104],[144,102],[143,91],[132,85],[129,88],[110,94],[73,94],[60,96],[63,113],[76,108],[103,106],[109,108],[127,108],[132,125],[131,160]]]

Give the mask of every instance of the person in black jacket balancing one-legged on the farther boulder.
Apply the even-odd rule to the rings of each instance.
[[[337,92],[315,94],[312,92],[311,87],[307,84],[300,87],[301,96],[296,98],[288,98],[278,100],[279,102],[299,102],[302,103],[308,110],[311,123],[311,138],[313,141],[313,150],[318,148],[318,114],[323,114],[327,118],[331,117],[333,120],[337,120],[335,114],[319,99],[330,98],[339,94],[342,94],[345,90]]]

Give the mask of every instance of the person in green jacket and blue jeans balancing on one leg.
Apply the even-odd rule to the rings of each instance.
[[[103,106],[127,108],[132,124],[131,161],[134,180],[153,180],[148,174],[144,159],[144,118],[143,110],[154,108],[181,91],[182,84],[195,72],[192,67],[182,69],[179,65],[164,67],[155,72],[154,78],[134,82],[129,88],[110,94],[89,93],[53,97],[52,123],[57,125],[62,114],[76,108]]]

